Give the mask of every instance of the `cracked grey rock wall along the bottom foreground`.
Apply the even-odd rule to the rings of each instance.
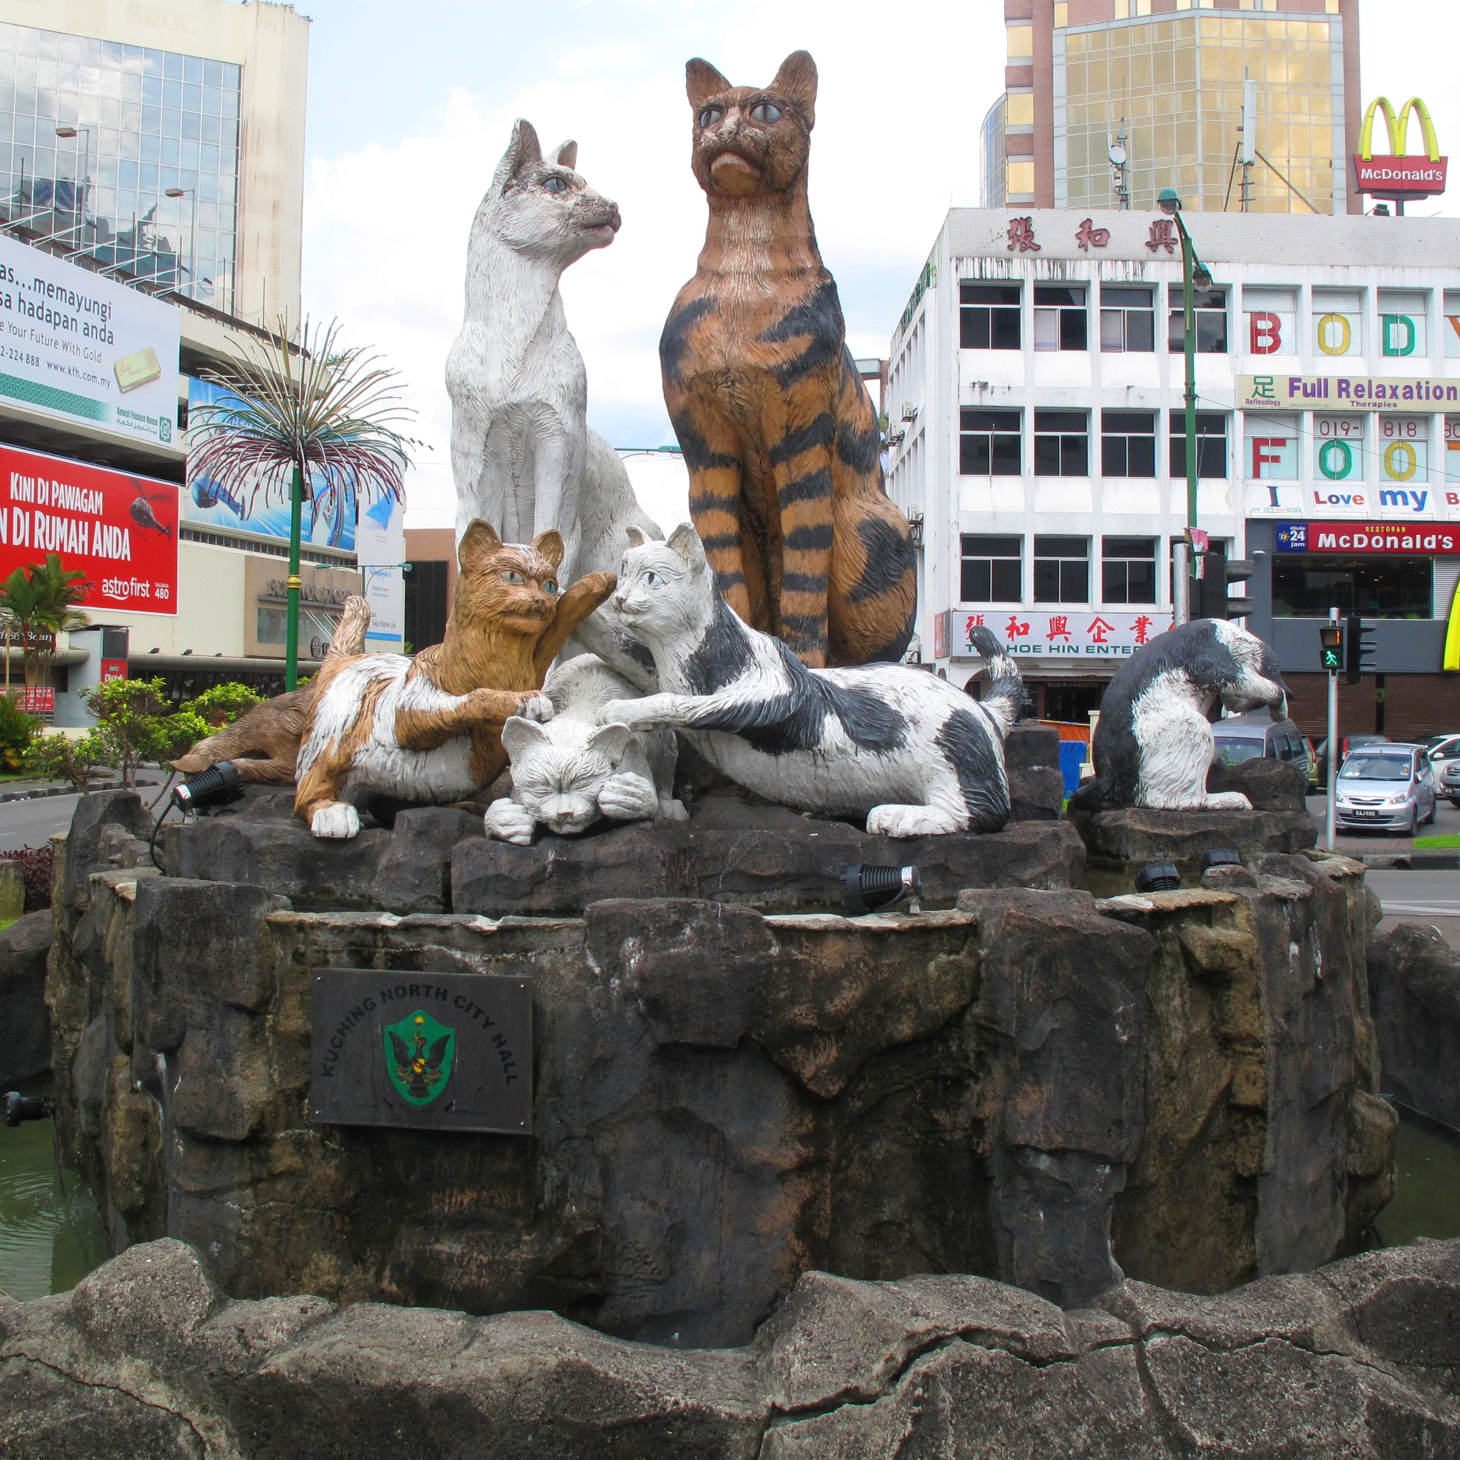
[[[1440,1457],[1457,1311],[1460,1242],[1222,1298],[1123,1282],[1072,1313],[981,1278],[807,1272],[746,1346],[673,1349],[548,1313],[231,1302],[164,1240],[0,1298],[0,1454]]]

